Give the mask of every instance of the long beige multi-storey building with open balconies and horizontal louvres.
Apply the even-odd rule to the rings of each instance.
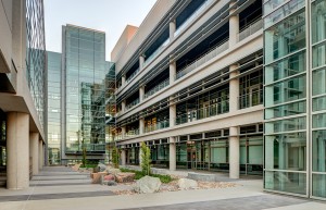
[[[159,0],[127,26],[111,54],[122,164],[145,141],[154,166],[263,175],[262,13],[261,0]]]

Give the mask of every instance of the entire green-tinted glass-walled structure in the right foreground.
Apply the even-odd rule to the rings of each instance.
[[[326,1],[264,1],[266,190],[326,199]]]

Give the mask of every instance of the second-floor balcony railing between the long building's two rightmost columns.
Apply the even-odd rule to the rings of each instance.
[[[206,108],[189,111],[188,113],[176,116],[176,125],[189,123],[218,114],[223,114],[229,111],[229,101],[225,100]]]

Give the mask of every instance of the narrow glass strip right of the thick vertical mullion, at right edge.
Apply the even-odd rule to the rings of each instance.
[[[312,189],[326,198],[326,0],[311,5],[312,26]]]

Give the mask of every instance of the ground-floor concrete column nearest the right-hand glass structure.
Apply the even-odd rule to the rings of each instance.
[[[229,128],[229,177],[239,178],[240,176],[240,140],[238,127]]]

